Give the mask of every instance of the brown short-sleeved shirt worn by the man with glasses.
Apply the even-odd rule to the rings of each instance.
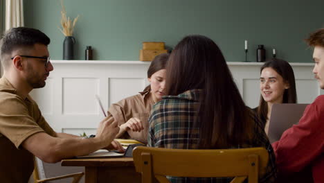
[[[37,103],[21,98],[10,82],[0,79],[0,182],[28,182],[33,172],[33,154],[21,143],[37,133],[55,136]]]

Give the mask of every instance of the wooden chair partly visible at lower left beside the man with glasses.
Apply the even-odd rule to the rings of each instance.
[[[71,174],[67,174],[67,175],[60,175],[60,176],[55,176],[55,177],[46,177],[46,172],[44,170],[44,162],[42,162],[41,159],[39,159],[38,157],[34,158],[34,171],[33,171],[33,178],[34,178],[34,182],[38,183],[38,182],[48,182],[48,181],[52,181],[52,180],[64,180],[64,179],[68,179],[68,178],[73,178],[72,183],[78,183],[80,182],[80,179],[82,178],[82,176],[84,175],[83,172],[80,173],[71,173]],[[53,168],[66,168],[66,167],[61,167],[60,163],[57,164],[52,164]],[[65,180],[65,182],[67,182],[69,180]],[[70,181],[71,182],[71,181]]]

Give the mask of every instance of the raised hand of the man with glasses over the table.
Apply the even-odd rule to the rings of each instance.
[[[98,139],[100,143],[102,143],[102,148],[105,148],[115,139],[118,132],[119,127],[117,121],[114,121],[113,118],[107,117],[100,122],[96,137],[93,139]]]

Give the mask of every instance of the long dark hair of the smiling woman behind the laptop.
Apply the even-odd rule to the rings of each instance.
[[[283,81],[289,85],[289,88],[285,89],[285,92],[283,94],[282,103],[297,103],[294,70],[291,68],[290,64],[285,60],[271,58],[269,60],[266,60],[266,62],[262,65],[260,74],[262,73],[263,69],[269,67],[275,70],[282,77]],[[268,119],[268,110],[269,109],[267,102],[264,101],[262,95],[260,95],[260,102],[257,110],[260,119]]]

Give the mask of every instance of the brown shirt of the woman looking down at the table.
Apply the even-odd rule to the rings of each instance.
[[[150,116],[152,105],[154,105],[152,93],[150,90],[146,90],[145,92],[140,92],[140,94],[125,98],[110,106],[108,115],[114,118],[114,120],[118,121],[118,125],[122,125],[129,119],[136,117],[142,121],[142,125],[144,127],[144,130],[141,132],[127,130],[127,132],[125,132],[120,138],[136,139],[138,141],[147,143],[147,119]]]

